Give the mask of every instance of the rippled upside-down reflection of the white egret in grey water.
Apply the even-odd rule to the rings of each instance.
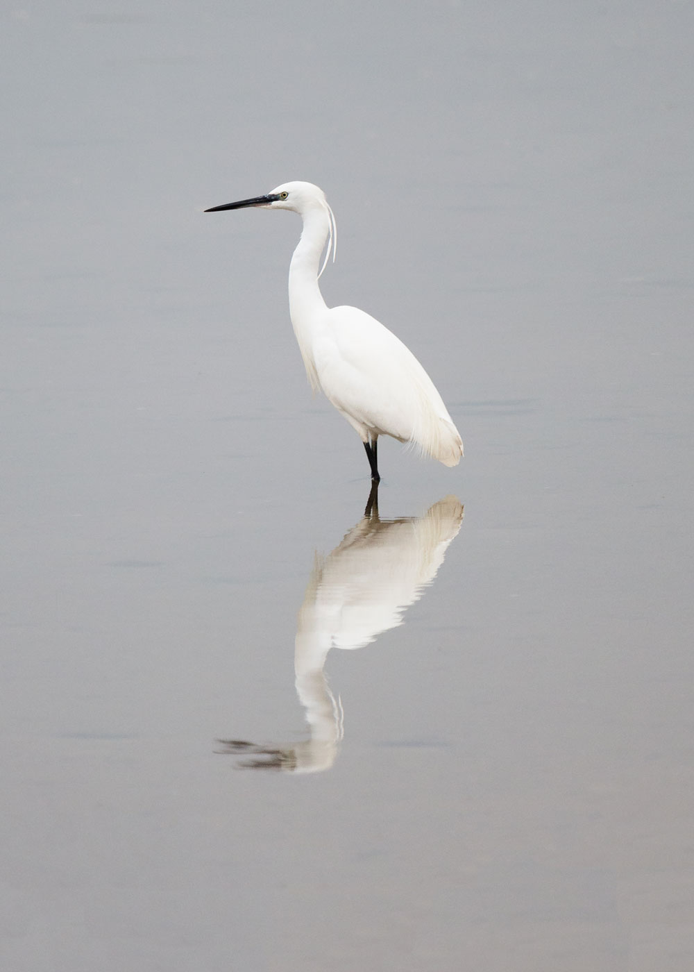
[[[343,735],[342,704],[324,673],[330,648],[364,647],[401,624],[405,608],[433,583],[462,522],[463,505],[454,496],[424,516],[382,520],[374,483],[362,519],[327,557],[316,556],[298,612],[295,687],[309,738],[294,746],[221,740],[221,751],[246,756],[237,764],[246,769],[330,769]]]

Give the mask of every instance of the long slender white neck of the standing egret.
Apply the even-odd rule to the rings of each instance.
[[[330,233],[330,217],[327,209],[316,206],[303,213],[302,219],[301,238],[290,263],[290,316],[308,380],[313,388],[318,388],[312,337],[320,328],[321,313],[327,310],[318,286],[318,273]]]

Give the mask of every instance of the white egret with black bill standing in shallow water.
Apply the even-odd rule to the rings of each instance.
[[[288,209],[303,221],[289,272],[292,326],[309,384],[359,434],[371,481],[381,478],[379,435],[408,443],[444,466],[457,466],[463,441],[422,364],[392,330],[363,310],[328,307],[323,299],[318,281],[330,252],[334,261],[337,246],[337,225],[325,192],[312,183],[288,182],[205,212],[246,207]]]

